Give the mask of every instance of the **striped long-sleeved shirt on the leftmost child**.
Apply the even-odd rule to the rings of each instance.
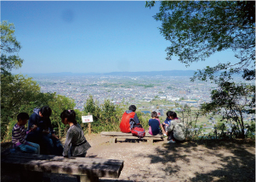
[[[21,144],[26,143],[26,130],[25,126],[20,126],[18,124],[14,125],[14,128],[12,130],[12,142],[14,146],[20,146]]]

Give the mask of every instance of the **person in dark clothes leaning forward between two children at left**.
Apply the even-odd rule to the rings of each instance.
[[[55,135],[49,119],[52,114],[51,108],[44,106],[40,109],[35,108],[33,112],[28,122],[28,129],[31,130],[33,128],[33,131],[26,136],[26,141],[39,144],[42,150],[41,153],[61,156],[63,146]]]

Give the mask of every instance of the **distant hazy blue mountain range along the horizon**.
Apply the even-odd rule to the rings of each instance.
[[[171,70],[171,71],[145,71],[145,72],[111,72],[111,73],[51,73],[51,74],[27,74],[28,76],[82,76],[82,75],[101,75],[101,76],[192,76],[195,70]]]

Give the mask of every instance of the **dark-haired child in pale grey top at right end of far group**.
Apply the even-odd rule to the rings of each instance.
[[[185,126],[180,119],[177,118],[177,113],[171,112],[170,118],[172,123],[168,125],[168,135],[170,135],[170,141],[168,143],[176,143],[185,141]]]

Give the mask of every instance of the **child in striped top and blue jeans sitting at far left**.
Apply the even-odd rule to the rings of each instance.
[[[29,115],[27,113],[19,113],[17,116],[18,122],[14,125],[12,130],[12,143],[15,150],[20,150],[25,153],[35,153],[40,154],[40,146],[37,143],[32,143],[26,141],[26,135],[31,132],[31,130],[35,130],[36,128],[31,128],[31,130],[25,130],[25,124],[29,119]]]

